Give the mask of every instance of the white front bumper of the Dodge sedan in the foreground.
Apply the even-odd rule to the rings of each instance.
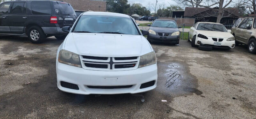
[[[61,81],[75,84],[79,90],[61,86]],[[150,87],[140,89],[141,84],[155,81]],[[57,63],[57,86],[61,91],[76,94],[121,94],[141,93],[156,88],[157,65],[128,71],[93,71]],[[127,86],[129,88],[101,89],[88,86]]]

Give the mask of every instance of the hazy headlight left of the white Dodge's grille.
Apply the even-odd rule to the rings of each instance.
[[[71,66],[82,67],[79,56],[66,50],[60,51],[58,61]]]

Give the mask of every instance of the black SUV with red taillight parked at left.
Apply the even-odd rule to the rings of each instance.
[[[0,35],[28,36],[33,43],[46,37],[65,39],[64,26],[73,26],[77,16],[72,6],[51,0],[18,0],[0,4]]]

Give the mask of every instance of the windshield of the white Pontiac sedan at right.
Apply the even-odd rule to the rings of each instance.
[[[198,24],[196,30],[228,32],[225,26],[221,24],[209,24],[209,23]]]

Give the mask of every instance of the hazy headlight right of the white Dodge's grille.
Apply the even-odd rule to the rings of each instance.
[[[156,63],[155,52],[148,53],[146,55],[140,56],[139,68],[152,65]]]

